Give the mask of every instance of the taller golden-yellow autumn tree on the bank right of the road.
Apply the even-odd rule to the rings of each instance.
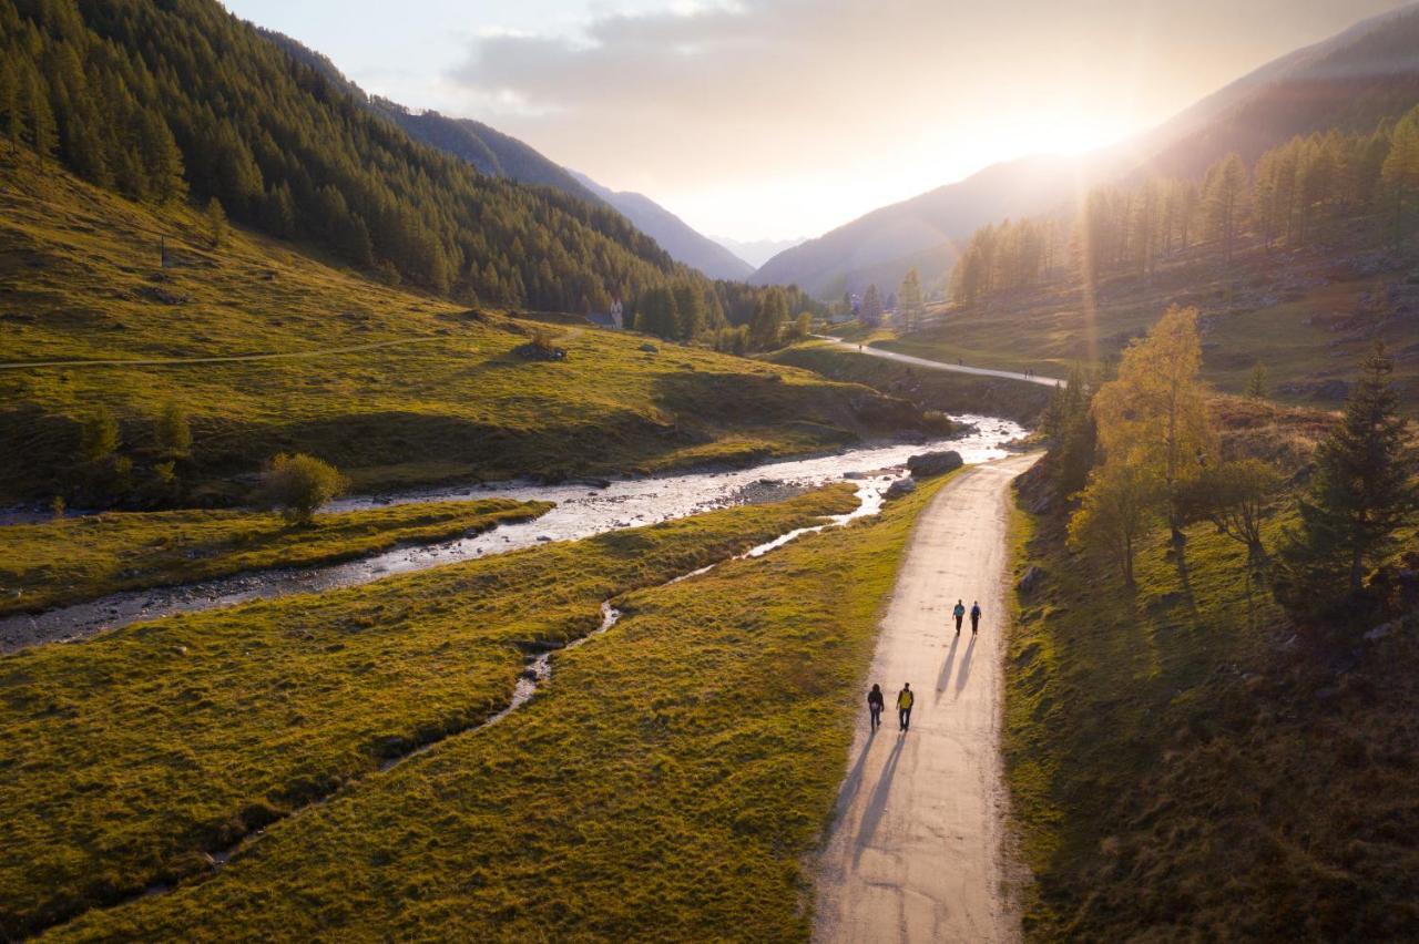
[[[1158,479],[1175,540],[1182,537],[1178,499],[1216,455],[1200,369],[1198,309],[1175,305],[1124,350],[1118,378],[1094,397],[1105,462]]]

